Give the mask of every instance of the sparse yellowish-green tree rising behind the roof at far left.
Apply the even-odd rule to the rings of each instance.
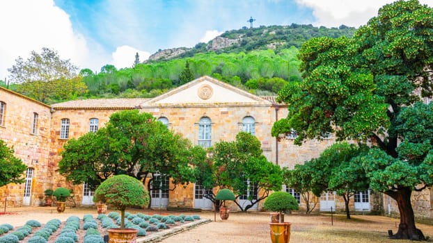
[[[17,91],[42,102],[76,98],[87,92],[86,84],[77,75],[78,68],[70,60],[62,60],[57,51],[42,48],[31,51],[27,60],[18,57],[8,69],[10,81]]]

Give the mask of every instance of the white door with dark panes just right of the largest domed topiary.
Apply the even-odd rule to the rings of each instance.
[[[170,178],[166,175],[154,175],[150,188],[152,189],[151,208],[166,208],[168,206],[168,187]],[[153,190],[155,188],[155,190]]]

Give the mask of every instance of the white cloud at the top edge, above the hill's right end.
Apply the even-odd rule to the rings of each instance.
[[[367,24],[368,20],[377,16],[377,10],[394,0],[295,0],[299,5],[313,9],[316,18],[315,26],[338,27],[341,24],[346,26],[359,27]],[[420,3],[427,3],[432,6],[432,0],[421,0]]]

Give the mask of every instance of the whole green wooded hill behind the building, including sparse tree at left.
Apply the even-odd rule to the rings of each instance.
[[[347,26],[317,28],[299,24],[243,28],[226,31],[194,48],[158,51],[146,62],[139,62],[136,56],[132,67],[105,65],[99,72],[84,68],[79,76],[70,62],[58,62],[61,58],[55,51],[42,49],[41,55],[35,52],[26,62],[17,63],[13,69],[15,78],[11,78],[8,87],[45,103],[104,97],[149,98],[207,75],[253,94],[276,95],[288,82],[301,80],[297,58],[301,44],[312,37],[352,37],[355,31]],[[68,66],[63,69],[68,70],[68,75],[57,74],[58,67],[65,63]],[[56,75],[38,79],[45,69]],[[32,73],[26,73],[29,70]],[[6,86],[1,81],[0,85]]]

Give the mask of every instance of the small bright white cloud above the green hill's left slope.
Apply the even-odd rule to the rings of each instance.
[[[139,53],[140,62],[147,60],[150,56],[150,53],[147,51],[140,51],[134,47],[124,45],[122,47],[118,47],[116,51],[111,54],[111,64],[117,69],[132,67],[132,65],[134,65],[136,53]]]

